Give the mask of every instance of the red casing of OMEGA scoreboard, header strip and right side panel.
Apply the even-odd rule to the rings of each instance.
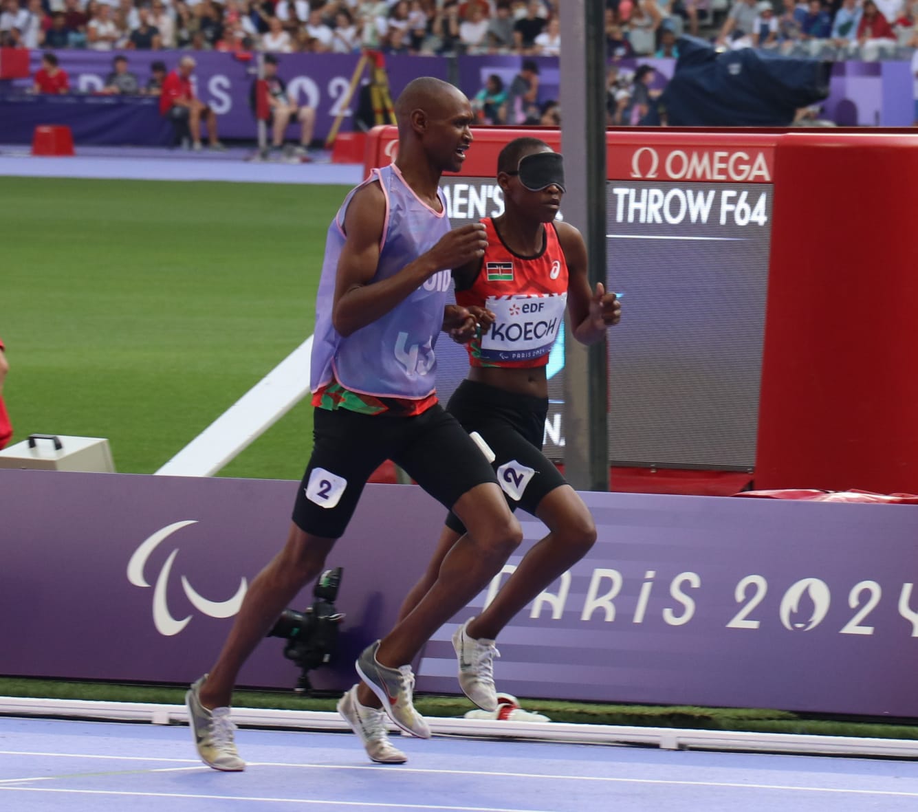
[[[493,177],[521,135],[563,149],[554,129],[474,134],[462,175]],[[755,486],[918,493],[918,135],[623,128],[607,144],[609,180],[774,184]],[[396,146],[374,130],[367,169]]]

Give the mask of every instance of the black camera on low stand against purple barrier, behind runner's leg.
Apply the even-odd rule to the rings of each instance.
[[[305,612],[285,609],[268,632],[268,637],[285,638],[284,656],[300,668],[294,690],[297,694],[312,692],[309,674],[331,661],[338,646],[338,628],[344,615],[334,605],[341,585],[341,567],[326,570],[312,591],[316,600]]]

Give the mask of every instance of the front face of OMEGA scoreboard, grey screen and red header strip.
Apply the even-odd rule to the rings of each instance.
[[[494,174],[509,140],[537,135],[561,147],[557,130],[475,134],[463,173],[441,184],[453,226],[503,211]],[[378,138],[377,165],[393,153],[394,130]],[[621,324],[608,338],[610,464],[754,467],[774,138],[608,133],[606,287],[623,294]],[[545,452],[558,461],[564,352],[559,340],[547,371]],[[465,377],[467,355],[443,336],[437,360],[445,402]]]

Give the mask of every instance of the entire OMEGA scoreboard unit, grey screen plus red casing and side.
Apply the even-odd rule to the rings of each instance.
[[[509,140],[564,151],[556,129],[474,135],[462,172],[442,182],[453,223],[502,211],[494,174]],[[625,294],[609,336],[610,464],[918,491],[918,378],[903,372],[918,347],[918,136],[623,128],[606,139],[607,287]],[[396,148],[396,129],[377,128],[367,169]],[[556,350],[545,448],[560,460]],[[446,355],[448,396],[464,359]]]

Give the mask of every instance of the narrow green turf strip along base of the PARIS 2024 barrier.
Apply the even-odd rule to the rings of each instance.
[[[0,677],[0,695],[3,696],[183,705],[185,689],[185,686],[70,683]],[[233,704],[239,707],[332,711],[337,700],[337,696],[312,698],[298,696],[292,692],[237,691],[233,697]],[[415,706],[420,713],[429,717],[460,717],[474,707],[465,696],[433,695],[416,696]],[[522,706],[527,710],[543,713],[555,722],[918,739],[918,728],[908,725],[882,724],[874,720],[807,717],[788,711],[759,708],[607,705],[553,699],[524,699]]]

